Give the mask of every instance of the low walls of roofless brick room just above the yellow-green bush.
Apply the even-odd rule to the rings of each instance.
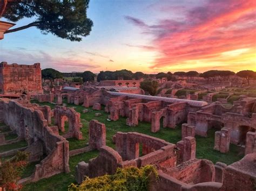
[[[93,121],[92,123],[95,123]],[[143,144],[142,157],[139,157],[138,145]],[[84,175],[89,177],[113,174],[117,167],[135,166],[142,167],[149,164],[160,166],[175,166],[176,155],[174,144],[162,139],[146,136],[137,132],[116,134],[116,150],[108,146],[99,148],[98,157],[91,159],[88,164],[79,162],[76,166],[76,180],[82,181]],[[172,164],[170,164],[172,162]]]

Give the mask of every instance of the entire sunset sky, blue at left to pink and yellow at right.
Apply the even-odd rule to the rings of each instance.
[[[60,72],[256,71],[255,0],[91,0],[87,16],[94,26],[81,42],[35,27],[5,34],[0,61]]]

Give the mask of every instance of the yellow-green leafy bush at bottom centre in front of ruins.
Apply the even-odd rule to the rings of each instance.
[[[147,165],[142,168],[118,168],[116,174],[88,178],[81,185],[71,184],[69,190],[148,190],[150,182],[156,182],[156,168]]]

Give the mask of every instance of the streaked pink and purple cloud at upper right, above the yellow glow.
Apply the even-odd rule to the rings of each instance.
[[[166,11],[174,8],[167,6]],[[132,19],[143,33],[155,37],[152,44],[161,56],[155,60],[153,69],[187,60],[217,59],[222,52],[255,47],[253,0],[210,0],[180,11],[180,15],[185,15],[183,20],[162,19],[154,25]]]

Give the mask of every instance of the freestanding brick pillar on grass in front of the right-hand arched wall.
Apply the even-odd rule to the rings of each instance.
[[[230,129],[222,128],[215,132],[214,150],[226,153],[230,150]]]

